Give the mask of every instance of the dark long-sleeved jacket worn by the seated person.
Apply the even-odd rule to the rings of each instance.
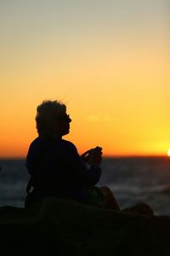
[[[43,141],[37,137],[29,148],[26,167],[34,180],[34,196],[57,195],[88,200],[88,189],[99,181],[101,168],[84,164],[77,148],[66,140]]]

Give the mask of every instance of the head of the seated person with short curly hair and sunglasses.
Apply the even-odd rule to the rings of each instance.
[[[43,101],[37,106],[36,123],[40,137],[62,137],[69,133],[70,122],[62,102]]]

